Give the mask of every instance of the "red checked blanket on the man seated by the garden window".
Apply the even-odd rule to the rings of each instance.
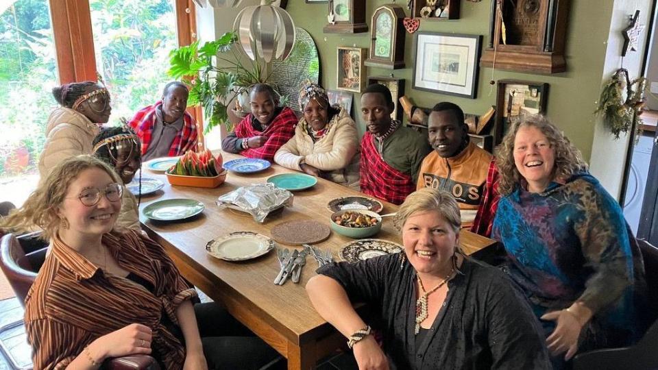
[[[158,101],[152,106],[147,106],[135,114],[128,122],[135,134],[142,143],[142,155],[146,153],[151,144],[151,134],[153,127],[156,125],[156,108],[162,106],[162,101]],[[169,148],[169,156],[182,156],[188,150],[197,149],[197,125],[188,112],[183,115],[183,128],[178,135],[173,138]]]

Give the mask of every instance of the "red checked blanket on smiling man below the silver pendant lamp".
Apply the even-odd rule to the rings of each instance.
[[[272,162],[274,160],[274,153],[276,153],[282,145],[288,143],[288,140],[290,140],[295,134],[295,125],[297,125],[297,121],[299,120],[297,119],[297,116],[295,116],[293,110],[285,107],[272,119],[265,131],[260,132],[254,129],[254,126],[252,125],[253,119],[254,114],[246,116],[241,123],[235,127],[235,135],[239,138],[250,138],[252,136],[263,135],[267,136],[267,141],[265,142],[265,145],[260,148],[245,149],[241,151],[240,154],[247,158],[259,158]]]

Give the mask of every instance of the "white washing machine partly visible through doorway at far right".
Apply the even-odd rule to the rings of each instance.
[[[633,149],[629,184],[626,186],[624,217],[626,217],[626,221],[631,225],[634,235],[637,235],[639,216],[642,212],[642,201],[644,200],[644,189],[646,188],[646,177],[649,173],[652,149],[653,132],[648,132],[640,136],[639,143]]]

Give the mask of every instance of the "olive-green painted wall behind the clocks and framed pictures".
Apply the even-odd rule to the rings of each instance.
[[[366,1],[366,0],[356,0]],[[455,21],[422,21],[419,31],[446,32],[455,34],[483,35],[483,47],[488,42],[489,10],[491,1],[479,3],[461,0],[461,18]],[[367,23],[370,16],[380,5],[391,3],[386,0],[367,0]],[[396,1],[406,10],[406,0]],[[568,21],[565,56],[567,69],[565,73],[554,75],[534,75],[496,71],[494,79],[522,79],[547,82],[547,114],[572,142],[583,151],[589,160],[596,122],[594,109],[600,92],[605,58],[606,42],[609,34],[613,0],[572,0]],[[336,48],[338,46],[356,46],[369,48],[369,33],[363,34],[324,34],[326,25],[326,3],[305,3],[303,0],[289,0],[288,12],[295,25],[306,29],[315,39],[320,56],[321,84],[325,88],[336,88]],[[409,15],[409,10],[406,10]],[[413,98],[417,106],[431,107],[439,101],[452,101],[459,104],[467,113],[482,114],[488,106],[496,104],[496,90],[490,89],[491,69],[483,68],[478,75],[478,94],[476,99],[465,99],[427,93],[411,88],[413,77],[414,42],[413,35],[406,34],[405,62],[406,69],[387,70],[366,67],[369,76],[389,75],[406,79],[406,95]],[[354,94],[353,114],[361,122],[360,94]],[[363,125],[360,125],[363,133]]]

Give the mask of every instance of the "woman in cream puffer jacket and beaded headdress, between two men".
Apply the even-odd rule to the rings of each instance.
[[[295,136],[276,152],[274,162],[358,190],[358,132],[349,112],[329,105],[326,91],[306,82],[299,95],[304,113]]]

